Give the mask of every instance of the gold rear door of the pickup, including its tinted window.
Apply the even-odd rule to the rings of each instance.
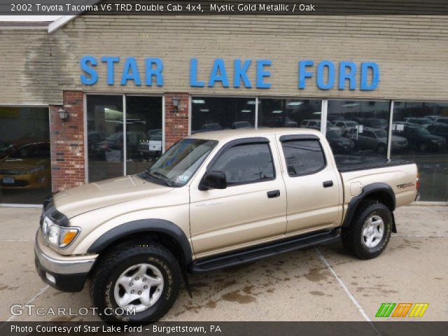
[[[331,155],[330,148],[321,141],[314,134],[279,137],[286,165],[288,235],[339,225],[342,186],[333,160],[325,158],[325,153]]]

